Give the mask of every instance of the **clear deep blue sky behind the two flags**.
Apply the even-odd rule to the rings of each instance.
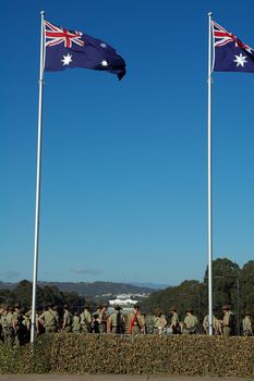
[[[178,284],[207,265],[207,13],[254,47],[254,2],[4,1],[0,280],[32,280],[40,10],[125,59],[45,73],[38,279]],[[214,257],[254,255],[254,75],[214,74]]]

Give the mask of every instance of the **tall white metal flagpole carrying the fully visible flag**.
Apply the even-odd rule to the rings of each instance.
[[[40,12],[41,32],[40,32],[40,69],[39,69],[39,106],[38,106],[38,140],[37,140],[37,175],[36,175],[36,204],[35,204],[35,244],[34,244],[34,275],[33,275],[33,296],[32,296],[32,325],[31,343],[35,341],[36,322],[36,287],[38,269],[38,245],[39,245],[39,206],[40,206],[40,172],[41,172],[41,138],[43,138],[43,95],[44,95],[44,59],[45,59],[45,12]]]

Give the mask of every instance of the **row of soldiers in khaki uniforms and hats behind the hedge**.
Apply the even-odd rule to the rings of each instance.
[[[220,320],[213,315],[213,332],[215,335],[230,336],[235,333],[235,319],[229,305],[222,307],[223,318]],[[0,342],[9,346],[20,346],[29,342],[31,310],[22,310],[19,305],[12,307],[0,306]],[[203,320],[205,333],[209,333],[208,316]],[[190,308],[183,320],[180,320],[177,308],[169,309],[165,316],[157,309],[154,316],[141,312],[135,305],[133,311],[122,312],[120,306],[114,306],[112,314],[108,312],[108,305],[98,307],[90,314],[89,306],[85,305],[81,314],[71,314],[64,305],[63,312],[59,314],[58,306],[48,305],[45,310],[36,312],[36,335],[55,332],[73,333],[116,333],[116,334],[195,334],[199,332],[198,320]],[[246,312],[242,320],[244,335],[253,335],[251,314]]]

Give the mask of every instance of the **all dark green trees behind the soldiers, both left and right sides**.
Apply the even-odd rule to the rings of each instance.
[[[170,286],[152,293],[141,303],[142,311],[154,314],[161,308],[168,314],[174,306],[181,316],[188,308],[193,308],[198,321],[207,315],[208,309],[208,271],[206,269],[202,282],[185,280],[180,285]],[[232,306],[235,317],[240,320],[249,310],[254,316],[254,261],[250,260],[242,268],[227,258],[218,258],[213,262],[214,307],[219,317],[222,317],[221,307],[225,304]],[[21,281],[13,290],[0,290],[0,304],[31,306],[32,282]],[[73,309],[81,308],[85,302],[90,306],[107,302],[105,298],[85,300],[76,292],[61,292],[55,285],[37,286],[37,305],[68,304]]]

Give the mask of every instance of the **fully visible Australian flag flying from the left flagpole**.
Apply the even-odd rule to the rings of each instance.
[[[45,71],[69,67],[106,71],[117,74],[119,79],[125,74],[124,60],[110,45],[45,21]]]

